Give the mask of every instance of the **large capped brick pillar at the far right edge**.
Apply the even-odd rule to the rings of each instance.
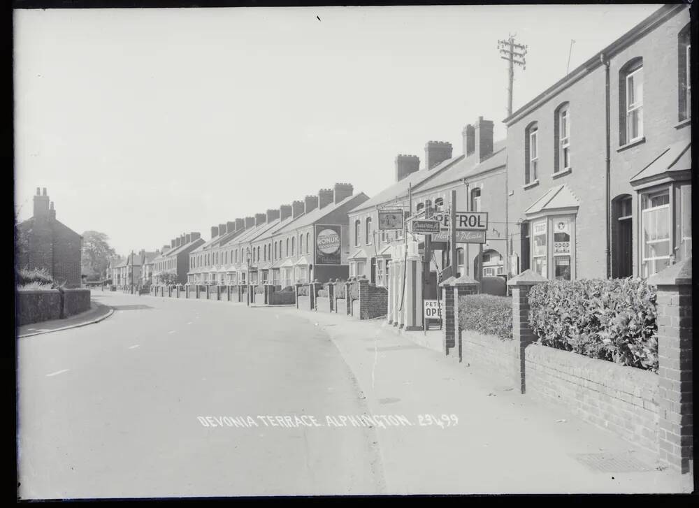
[[[658,310],[658,456],[681,474],[693,463],[692,259],[651,275]]]

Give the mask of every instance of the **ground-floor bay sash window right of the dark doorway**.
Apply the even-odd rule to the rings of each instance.
[[[670,192],[641,197],[642,273],[649,277],[670,266]]]

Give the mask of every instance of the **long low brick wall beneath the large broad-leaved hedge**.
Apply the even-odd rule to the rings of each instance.
[[[658,451],[657,374],[539,344],[524,354],[526,393]]]

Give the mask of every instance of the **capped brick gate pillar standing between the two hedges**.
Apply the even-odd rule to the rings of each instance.
[[[542,282],[547,282],[547,279],[531,268],[507,281],[507,286],[512,288],[512,340],[516,356],[514,382],[520,387],[521,393],[525,393],[526,390],[524,351],[529,344],[536,341],[529,326],[529,291]]]

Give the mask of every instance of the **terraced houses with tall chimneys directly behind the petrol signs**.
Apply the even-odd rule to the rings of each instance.
[[[479,117],[475,124],[462,131],[463,153],[452,157],[452,145],[430,141],[425,145],[425,166],[419,168],[414,155],[396,157],[396,183],[377,196],[354,208],[349,214],[353,253],[350,276],[366,275],[373,284],[384,285],[387,280],[388,247],[403,241],[402,231],[379,231],[380,208],[403,208],[406,215],[425,210],[444,211],[456,190],[457,211],[489,212],[482,261],[482,274],[502,275],[506,249],[505,228],[505,140],[493,143],[493,122]],[[412,191],[412,203],[408,198]],[[411,208],[412,206],[412,208]],[[410,238],[413,237],[409,233]],[[424,249],[424,237],[415,235],[419,249]],[[480,249],[474,244],[457,244],[456,268],[463,273],[477,272]],[[426,297],[435,298],[437,274],[450,264],[444,244],[433,245],[430,261],[431,275],[426,274]],[[466,263],[465,260],[468,260]]]

